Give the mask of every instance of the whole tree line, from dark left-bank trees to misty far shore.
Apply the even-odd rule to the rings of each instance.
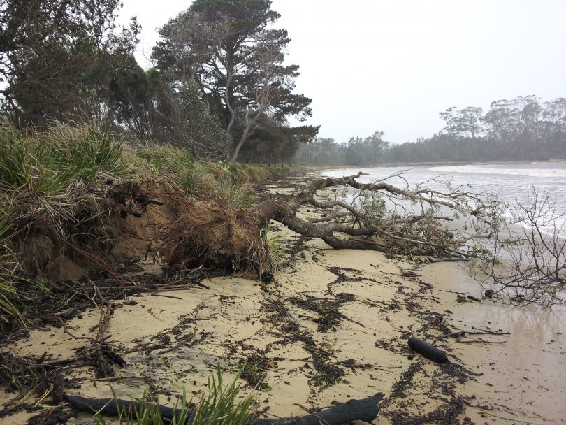
[[[566,99],[448,108],[444,128],[393,145],[383,131],[338,143],[295,92],[298,65],[270,0],[196,0],[159,29],[154,67],[133,57],[140,25],[119,0],[1,0],[0,114],[24,128],[89,122],[201,159],[310,164],[550,159],[566,152]]]

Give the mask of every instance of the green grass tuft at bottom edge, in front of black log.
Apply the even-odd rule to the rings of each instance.
[[[253,392],[239,399],[241,380],[240,373],[228,385],[224,385],[224,371],[217,366],[216,377],[208,379],[208,393],[198,401],[189,399],[187,391],[182,390],[180,405],[177,405],[175,414],[171,418],[163,417],[159,405],[144,393],[141,398],[133,401],[130,408],[120,408],[119,424],[138,425],[244,425],[249,424],[252,406],[254,404]],[[116,394],[114,394],[116,398]],[[99,415],[98,424],[106,425],[106,420]]]

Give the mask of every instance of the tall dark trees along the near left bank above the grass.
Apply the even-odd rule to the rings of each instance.
[[[196,0],[161,29],[154,67],[133,57],[140,25],[119,0],[2,0],[1,115],[21,127],[89,122],[203,159],[290,159],[318,127],[285,65],[269,0]]]

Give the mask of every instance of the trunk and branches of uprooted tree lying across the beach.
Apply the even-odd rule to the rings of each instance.
[[[297,195],[266,201],[268,206],[263,210],[292,231],[321,238],[336,249],[461,259],[485,254],[472,241],[491,237],[500,225],[500,202],[491,194],[472,194],[464,187],[442,192],[420,186],[400,188],[385,181],[357,182],[363,174],[316,180]],[[362,194],[353,195],[350,203],[319,196],[319,191],[335,187],[351,187]],[[393,208],[386,208],[386,200]],[[319,213],[319,217],[298,217],[303,206],[314,208],[311,212]],[[466,229],[473,232],[462,229],[454,233],[442,226],[455,218],[463,219]]]

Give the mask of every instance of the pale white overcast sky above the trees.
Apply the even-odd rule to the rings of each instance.
[[[191,1],[122,0],[143,26],[136,58],[151,66],[157,27]],[[312,97],[320,137],[385,131],[393,143],[442,129],[451,106],[566,96],[565,0],[273,0],[289,31],[297,92]]]

